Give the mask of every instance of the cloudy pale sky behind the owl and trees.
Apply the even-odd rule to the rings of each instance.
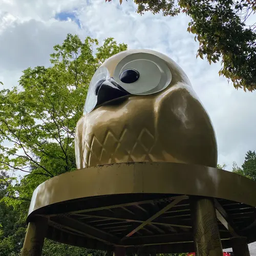
[[[256,92],[237,91],[219,77],[220,63],[196,58],[198,42],[189,34],[189,17],[136,13],[133,1],[119,0],[0,0],[0,81],[18,85],[28,67],[50,66],[53,46],[68,33],[114,37],[129,49],[151,49],[174,59],[188,75],[210,115],[218,142],[220,164],[241,165],[248,150],[256,150]],[[255,20],[256,21],[256,20]]]

